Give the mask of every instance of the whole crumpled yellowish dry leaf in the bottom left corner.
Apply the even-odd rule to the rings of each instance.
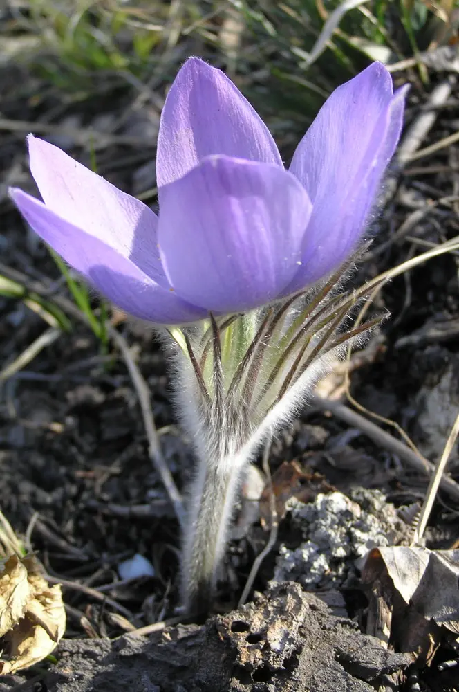
[[[59,585],[50,587],[35,558],[12,555],[0,574],[0,635],[7,657],[0,675],[28,668],[48,656],[66,626]]]

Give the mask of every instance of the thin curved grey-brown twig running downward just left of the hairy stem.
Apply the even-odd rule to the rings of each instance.
[[[131,355],[129,346],[127,345],[124,337],[121,336],[119,331],[113,329],[113,327],[109,327],[109,333],[122,353],[127,369],[129,370],[129,374],[131,375],[135,392],[137,392],[140,408],[142,410],[145,432],[147,433],[149,457],[165,486],[169,499],[171,500],[172,506],[176,512],[178,521],[180,522],[180,526],[183,527],[185,525],[185,512],[183,510],[182,498],[180,497],[180,493],[178,492],[174,478],[169,471],[169,467],[165,462],[165,458],[162,456],[158,433],[156,432],[155,421],[153,419],[153,412],[151,410],[149,388]]]

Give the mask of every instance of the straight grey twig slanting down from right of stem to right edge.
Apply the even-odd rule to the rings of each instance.
[[[353,411],[343,403],[330,401],[328,399],[320,399],[319,397],[315,397],[312,400],[312,405],[316,406],[321,411],[331,411],[335,416],[341,419],[341,421],[348,423],[350,426],[355,426],[355,428],[359,428],[359,430],[364,432],[370,439],[373,439],[374,442],[382,445],[390,452],[397,454],[417,471],[422,471],[429,476],[432,475],[434,466],[431,462],[413,452],[413,450],[403,444],[403,442],[395,439],[395,437],[389,435],[385,430],[382,430],[371,421],[368,421],[364,416],[357,413],[357,411]],[[440,487],[442,490],[449,493],[451,497],[459,500],[459,484],[453,481],[452,478],[443,476],[440,481]]]

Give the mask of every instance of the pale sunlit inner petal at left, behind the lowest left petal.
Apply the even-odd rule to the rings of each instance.
[[[143,202],[42,139],[28,137],[30,170],[48,209],[130,257],[164,283],[156,245],[158,218]]]

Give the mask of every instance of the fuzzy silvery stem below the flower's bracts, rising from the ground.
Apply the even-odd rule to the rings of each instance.
[[[189,612],[212,605],[242,466],[232,459],[201,461],[191,485],[182,554],[182,598]]]

